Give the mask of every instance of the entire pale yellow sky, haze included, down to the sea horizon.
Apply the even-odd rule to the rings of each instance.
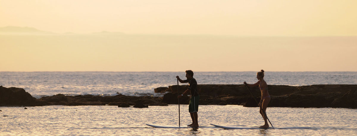
[[[0,0],[0,28],[55,33],[0,32],[0,71],[356,71],[356,5]]]

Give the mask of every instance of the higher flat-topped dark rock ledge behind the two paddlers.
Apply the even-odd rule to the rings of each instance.
[[[178,86],[179,93],[186,88],[187,86]],[[250,87],[250,90],[260,100],[259,88]],[[177,85],[169,86],[162,92],[166,93],[162,102],[177,104]],[[245,85],[198,85],[198,92],[200,105],[226,103],[257,107]],[[269,107],[357,108],[357,85],[268,85],[268,92],[271,96]],[[188,103],[189,98],[183,97],[181,102]]]

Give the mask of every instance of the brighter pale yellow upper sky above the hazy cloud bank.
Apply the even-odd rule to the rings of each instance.
[[[0,27],[57,33],[357,36],[356,0],[0,0]]]

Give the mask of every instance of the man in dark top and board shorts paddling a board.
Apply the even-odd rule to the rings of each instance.
[[[180,77],[178,76],[176,76],[176,78],[178,79],[178,81],[180,81],[180,83],[188,83],[188,88],[177,98],[181,98],[183,95],[187,94],[188,92],[191,93],[190,105],[188,105],[188,112],[190,112],[191,114],[192,124],[187,126],[198,127],[197,111],[198,111],[198,100],[200,99],[200,96],[198,95],[197,92],[197,81],[195,78],[193,78],[192,70],[186,70],[185,72],[186,72],[187,80],[181,80]]]

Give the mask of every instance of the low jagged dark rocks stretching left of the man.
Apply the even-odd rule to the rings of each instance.
[[[93,96],[93,95],[78,95],[65,96],[56,94],[54,96],[42,97],[36,99],[31,94],[25,92],[22,88],[2,87],[0,86],[0,106],[44,106],[44,105],[116,105],[122,106],[142,103],[147,105],[167,106],[166,103],[161,103],[161,97],[151,96],[125,96],[118,94],[116,96]],[[124,103],[124,104],[123,104]],[[123,106],[124,105],[124,106]],[[125,106],[129,107],[129,106]],[[141,107],[140,107],[141,108]]]

